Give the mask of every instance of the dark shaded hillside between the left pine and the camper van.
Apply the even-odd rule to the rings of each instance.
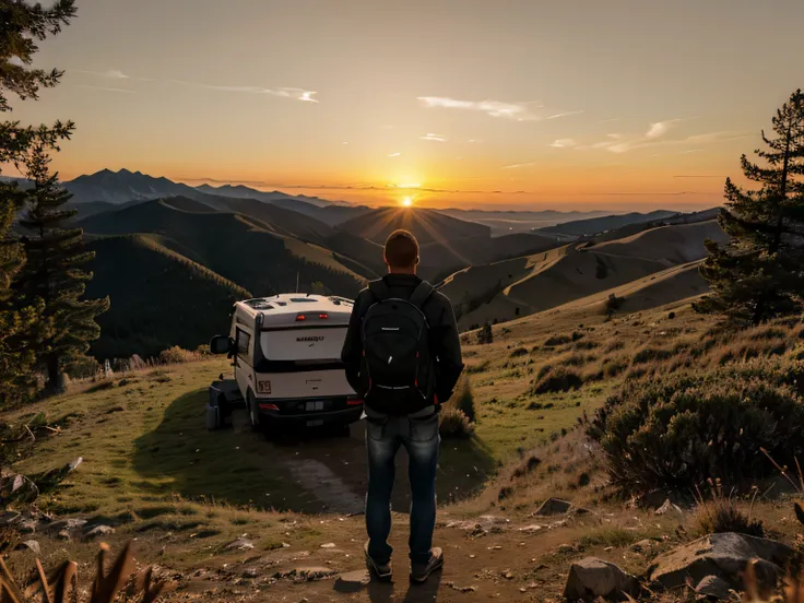
[[[111,299],[91,350],[99,359],[147,357],[173,345],[196,348],[225,333],[232,305],[251,297],[151,235],[97,238],[88,248],[97,258],[86,294]]]

